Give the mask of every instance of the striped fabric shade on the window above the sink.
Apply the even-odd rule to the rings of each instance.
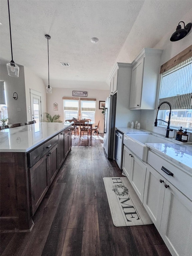
[[[169,101],[172,109],[191,109],[192,57],[170,68],[162,74],[159,104]],[[167,110],[167,104],[161,109]]]

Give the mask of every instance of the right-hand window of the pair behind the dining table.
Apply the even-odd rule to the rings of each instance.
[[[91,119],[95,122],[95,101],[81,100],[81,119]]]

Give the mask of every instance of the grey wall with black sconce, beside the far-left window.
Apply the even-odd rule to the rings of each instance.
[[[1,65],[0,68],[0,79],[5,83],[9,124],[24,124],[27,120],[24,67],[19,66],[19,77],[10,77],[6,65]],[[14,92],[18,94],[17,100],[13,98]],[[21,111],[17,111],[18,109]]]

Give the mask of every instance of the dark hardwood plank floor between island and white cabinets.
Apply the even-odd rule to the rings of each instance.
[[[168,256],[154,224],[115,227],[103,177],[122,176],[103,134],[72,137],[72,150],[34,215],[30,233],[1,233],[1,256]]]

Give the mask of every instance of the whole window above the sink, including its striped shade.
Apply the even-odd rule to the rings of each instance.
[[[171,126],[192,129],[192,57],[162,74],[159,104],[172,105]],[[163,104],[162,119],[168,121],[169,109]],[[161,125],[167,126],[162,122]]]

